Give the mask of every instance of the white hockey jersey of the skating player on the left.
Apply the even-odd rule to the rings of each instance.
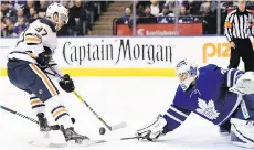
[[[21,34],[9,58],[18,58],[36,64],[34,57],[50,49],[54,53],[57,46],[54,24],[44,18],[31,23]]]

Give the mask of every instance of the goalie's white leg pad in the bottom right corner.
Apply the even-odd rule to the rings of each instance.
[[[231,119],[231,142],[243,148],[254,148],[254,120]]]

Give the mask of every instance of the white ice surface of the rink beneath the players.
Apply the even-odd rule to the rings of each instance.
[[[159,113],[165,113],[170,105],[176,87],[176,78],[149,77],[86,77],[74,78],[76,90],[108,124],[127,121],[124,129],[104,136],[98,133],[103,125],[77,100],[75,95],[62,92],[62,98],[70,114],[76,118],[75,128],[91,139],[109,139],[107,143],[77,150],[243,150],[230,143],[230,137],[221,136],[218,127],[191,115],[186,122],[158,142],[137,140],[118,141],[123,137],[134,136],[136,129],[154,120]],[[8,78],[0,77],[0,105],[35,118],[29,97],[17,89]],[[3,89],[3,90],[2,90]],[[52,121],[52,118],[50,118]],[[60,131],[51,133],[55,142],[62,142]],[[0,150],[34,150],[28,144],[32,140],[43,140],[38,125],[0,110]],[[49,148],[36,148],[46,150]],[[73,148],[64,148],[73,149]]]

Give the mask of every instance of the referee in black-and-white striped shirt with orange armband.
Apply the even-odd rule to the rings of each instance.
[[[248,39],[248,34],[254,35],[254,18],[245,4],[245,0],[239,0],[237,8],[227,14],[224,33],[231,44],[229,68],[237,68],[242,57],[247,72],[254,71],[254,52]]]

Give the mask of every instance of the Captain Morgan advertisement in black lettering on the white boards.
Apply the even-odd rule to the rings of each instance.
[[[173,61],[173,44],[154,39],[60,39],[64,66],[161,67]],[[142,42],[141,42],[142,41]]]

